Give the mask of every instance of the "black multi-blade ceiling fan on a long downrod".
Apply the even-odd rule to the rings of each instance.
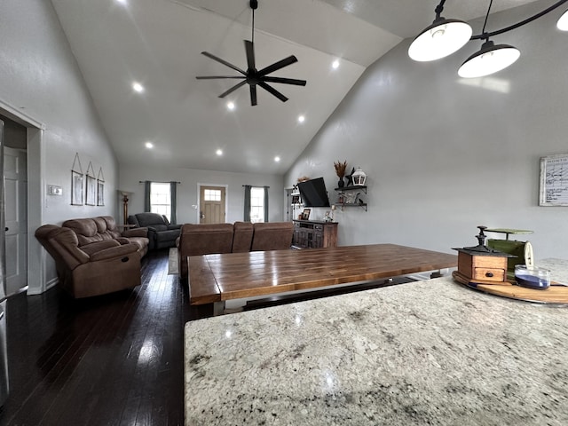
[[[252,9],[252,41],[245,40],[245,52],[247,54],[247,70],[244,71],[240,67],[235,67],[233,64],[230,64],[224,59],[217,58],[217,56],[212,55],[207,51],[201,51],[201,54],[207,56],[210,59],[217,60],[221,64],[225,65],[226,67],[233,68],[235,71],[241,73],[241,75],[202,75],[197,76],[198,80],[211,80],[211,79],[219,79],[219,78],[236,78],[242,79],[240,83],[235,84],[231,89],[221,93],[219,98],[225,98],[228,94],[236,91],[241,86],[244,86],[245,83],[248,83],[249,90],[250,90],[250,105],[256,105],[256,86],[262,87],[265,91],[268,91],[276,98],[280,99],[282,102],[286,102],[288,98],[284,96],[280,91],[277,91],[272,86],[268,85],[267,83],[284,83],[284,84],[295,84],[296,86],[305,86],[305,80],[296,80],[294,78],[282,78],[282,77],[271,77],[269,74],[272,74],[274,71],[278,71],[280,68],[288,67],[288,65],[292,65],[293,63],[297,62],[296,56],[288,56],[288,58],[281,59],[278,62],[274,62],[272,65],[268,67],[264,67],[263,69],[257,70],[255,64],[255,10],[258,8],[258,1],[257,0],[250,0],[250,8]]]

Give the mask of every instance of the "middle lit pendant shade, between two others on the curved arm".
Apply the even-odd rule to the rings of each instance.
[[[483,77],[501,71],[515,62],[521,52],[509,44],[494,44],[487,40],[481,49],[461,65],[458,75],[464,78]]]

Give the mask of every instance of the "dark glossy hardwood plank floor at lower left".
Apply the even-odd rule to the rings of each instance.
[[[0,425],[182,425],[183,327],[201,315],[186,292],[159,250],[143,259],[134,290],[9,299]]]

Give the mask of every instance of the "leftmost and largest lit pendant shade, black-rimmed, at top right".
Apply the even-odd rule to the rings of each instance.
[[[445,58],[468,43],[472,33],[469,24],[462,20],[439,18],[414,38],[408,56],[419,62]]]

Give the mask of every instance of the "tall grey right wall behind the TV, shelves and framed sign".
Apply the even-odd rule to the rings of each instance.
[[[546,5],[492,15],[491,28]],[[368,212],[335,214],[340,245],[393,242],[452,252],[475,245],[476,226],[488,225],[533,230],[526,239],[537,259],[568,258],[568,208],[538,206],[540,157],[568,154],[568,33],[555,26],[561,12],[495,37],[515,45],[521,59],[474,81],[460,79],[457,69],[478,42],[433,63],[409,59],[410,40],[399,44],[367,68],[285,185],[323,176],[335,197],[335,161],[367,172]],[[473,27],[477,34],[481,23]]]

